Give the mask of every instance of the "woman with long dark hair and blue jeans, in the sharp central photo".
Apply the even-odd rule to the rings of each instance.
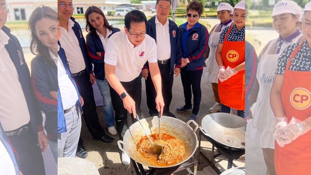
[[[114,127],[114,113],[110,97],[109,83],[105,78],[104,56],[108,39],[118,28],[109,25],[104,13],[96,6],[90,6],[85,12],[86,31],[86,49],[94,64],[94,74],[96,84],[103,97],[103,112],[108,131],[112,135],[117,134]],[[107,135],[108,136],[108,135]],[[108,136],[109,137],[109,136]]]

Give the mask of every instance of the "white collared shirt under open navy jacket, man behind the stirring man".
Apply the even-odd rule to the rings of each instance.
[[[158,60],[166,60],[171,57],[171,40],[169,39],[169,18],[166,18],[164,26],[156,17],[156,47]]]

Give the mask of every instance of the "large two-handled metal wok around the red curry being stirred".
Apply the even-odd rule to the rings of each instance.
[[[128,128],[128,130],[124,134],[123,141],[122,140],[118,141],[118,147],[122,151],[128,153],[130,157],[136,162],[149,167],[167,168],[185,162],[194,154],[198,146],[197,135],[195,133],[195,131],[198,128],[197,123],[193,120],[185,123],[179,119],[168,116],[162,116],[160,120],[161,120],[161,133],[172,135],[183,142],[187,142],[185,143],[186,147],[185,155],[179,162],[169,166],[158,166],[155,163],[150,162],[148,159],[144,158],[139,152],[137,152],[136,149],[137,143],[143,136],[145,136],[142,126],[139,125],[138,122],[135,122]],[[159,123],[157,116],[142,119],[140,121],[142,122],[144,128],[147,130],[148,134],[159,132],[158,128]],[[189,126],[190,123],[193,123],[195,125],[194,129],[192,129]],[[123,148],[121,144],[123,144]]]

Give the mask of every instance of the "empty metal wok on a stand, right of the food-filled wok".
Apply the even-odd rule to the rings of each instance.
[[[202,120],[204,134],[231,150],[245,149],[245,120],[228,113],[213,113]]]

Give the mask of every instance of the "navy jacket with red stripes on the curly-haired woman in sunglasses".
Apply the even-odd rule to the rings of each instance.
[[[188,58],[188,70],[202,70],[204,66],[204,53],[208,46],[208,31],[205,26],[197,22],[187,31],[188,22],[179,26],[179,39],[181,42],[182,57]]]

